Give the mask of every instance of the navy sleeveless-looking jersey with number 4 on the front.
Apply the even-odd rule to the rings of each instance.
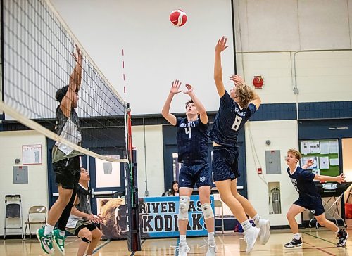
[[[208,123],[177,117],[178,162],[208,162]]]

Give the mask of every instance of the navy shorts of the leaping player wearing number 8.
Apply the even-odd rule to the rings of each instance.
[[[239,168],[239,151],[237,147],[230,148],[226,146],[213,147],[213,179],[215,181],[234,180],[240,177]]]

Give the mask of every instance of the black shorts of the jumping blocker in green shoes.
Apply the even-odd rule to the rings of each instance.
[[[81,177],[80,156],[53,162],[55,181],[62,188],[73,189]]]

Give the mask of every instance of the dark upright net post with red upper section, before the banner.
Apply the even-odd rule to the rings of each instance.
[[[130,252],[140,251],[141,234],[139,230],[139,205],[137,184],[137,151],[132,147],[131,109],[127,103],[127,152],[125,163],[125,192],[127,205],[127,247]]]

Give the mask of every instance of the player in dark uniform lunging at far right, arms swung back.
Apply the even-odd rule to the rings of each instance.
[[[298,166],[300,159],[301,153],[295,149],[289,149],[289,151],[287,151],[286,162],[287,165],[289,165],[287,168],[287,174],[289,174],[289,178],[291,179],[292,184],[294,184],[294,188],[296,188],[299,196],[294,204],[291,205],[289,212],[287,212],[286,215],[291,231],[294,233],[294,238],[292,238],[292,241],[286,243],[284,246],[291,248],[302,245],[302,239],[298,233],[298,224],[295,217],[306,209],[313,213],[315,219],[317,219],[317,222],[321,226],[325,226],[327,229],[337,233],[337,237],[339,238],[337,247],[346,245],[348,233],[344,229],[339,229],[339,227],[335,225],[334,222],[330,222],[325,218],[325,210],[322,206],[322,198],[313,182],[313,179],[315,179],[319,181],[334,181],[341,184],[341,182],[346,181],[344,174],[341,174],[337,177],[313,174],[312,172],[306,171],[307,167],[313,165],[313,160],[308,160],[306,165],[303,165],[301,168]]]

